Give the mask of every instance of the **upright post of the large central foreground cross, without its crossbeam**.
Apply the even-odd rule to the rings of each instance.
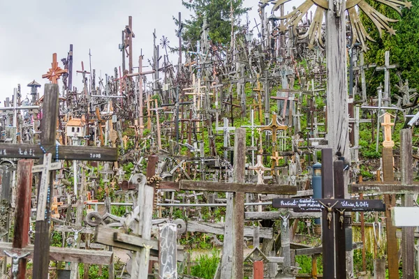
[[[235,183],[244,183],[246,165],[246,129],[237,128],[234,142],[233,177]],[[232,278],[243,278],[243,229],[244,229],[244,193],[233,194],[233,273]]]

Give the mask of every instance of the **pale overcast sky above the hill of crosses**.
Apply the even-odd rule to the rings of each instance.
[[[244,0],[244,6],[252,7],[249,13],[252,22],[258,17],[257,5],[258,0]],[[13,96],[17,84],[22,86],[24,99],[30,91],[29,82],[47,83],[41,76],[51,66],[52,53],[57,52],[62,67],[60,60],[67,56],[70,44],[73,44],[74,86],[81,88],[82,77],[75,73],[81,70],[81,61],[89,70],[89,49],[96,76],[113,75],[115,66],[122,63],[118,44],[129,15],[133,16],[136,64],[141,49],[145,62],[151,59],[154,29],[158,42],[164,35],[169,38],[170,46],[177,45],[172,16],[177,17],[181,12],[185,18],[190,14],[181,0],[0,1],[0,11],[0,106],[6,97]],[[42,95],[43,88],[40,92]]]

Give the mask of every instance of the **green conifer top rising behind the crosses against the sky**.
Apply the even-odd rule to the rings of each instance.
[[[182,5],[191,10],[191,19],[185,20],[182,28],[182,39],[196,47],[203,30],[204,17],[207,17],[208,33],[212,43],[227,45],[231,34],[231,1],[233,1],[233,17],[247,13],[250,8],[243,7],[243,0],[182,0]],[[177,20],[175,20],[177,22]],[[178,22],[177,22],[178,24]],[[237,24],[234,30],[240,29]]]

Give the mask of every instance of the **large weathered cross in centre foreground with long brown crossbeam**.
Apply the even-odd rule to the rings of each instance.
[[[224,231],[224,251],[221,259],[221,279],[243,278],[243,229],[244,229],[244,194],[293,194],[297,193],[295,186],[254,185],[244,183],[246,163],[246,129],[235,130],[233,183],[213,181],[185,181],[177,183],[162,181],[160,189],[199,190],[226,192],[227,211]]]

